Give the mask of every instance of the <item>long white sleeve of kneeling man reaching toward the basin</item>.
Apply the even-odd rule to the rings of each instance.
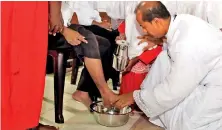
[[[209,60],[211,64],[211,57],[197,56],[196,51],[191,51],[190,48],[186,47],[183,52],[175,52],[175,60],[171,62],[169,74],[162,82],[151,89],[146,86],[143,87],[146,89],[134,92],[136,103],[148,117],[158,116],[174,108],[189,96],[209,72],[210,67],[205,60]],[[206,59],[203,60],[203,57]]]

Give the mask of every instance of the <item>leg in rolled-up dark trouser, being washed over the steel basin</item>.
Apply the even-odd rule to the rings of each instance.
[[[103,97],[105,105],[110,105],[112,100],[115,100],[115,94],[108,88],[106,80],[104,78],[102,63],[100,58],[99,46],[95,35],[84,29],[79,25],[71,25],[70,28],[78,31],[81,35],[86,37],[88,44],[82,43],[75,46],[75,51],[77,55],[83,58],[86,68],[91,75],[93,81],[95,82],[97,88]],[[109,48],[109,47],[108,47]],[[108,49],[104,48],[104,49]],[[105,51],[104,51],[105,52]],[[102,54],[103,52],[101,52]],[[89,86],[90,87],[90,86]]]

